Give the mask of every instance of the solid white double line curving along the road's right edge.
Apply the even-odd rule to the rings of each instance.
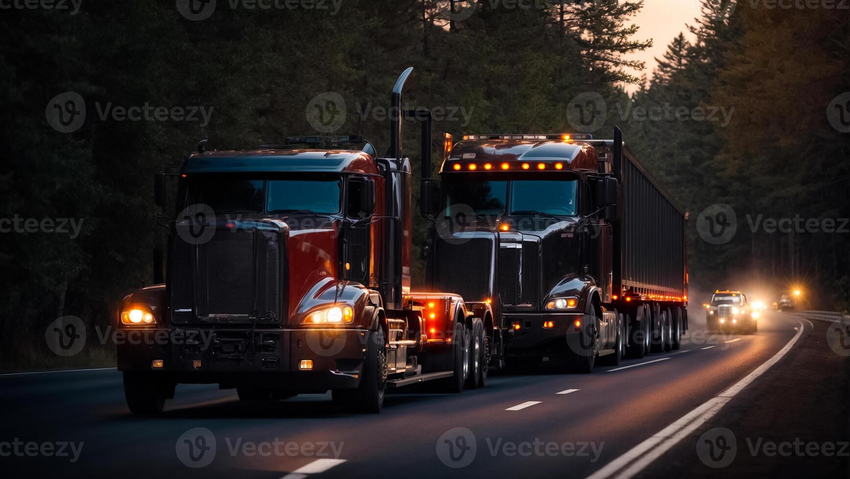
[[[683,437],[694,432],[698,427],[711,419],[711,416],[717,414],[717,411],[723,408],[724,404],[734,398],[735,394],[740,393],[742,389],[747,387],[758,376],[762,376],[762,374],[770,369],[771,366],[775,365],[779,359],[782,359],[782,357],[791,350],[791,347],[794,346],[797,340],[800,339],[802,330],[803,324],[801,322],[800,329],[796,332],[796,335],[791,338],[791,341],[785,344],[784,348],[779,349],[778,353],[774,354],[772,358],[765,361],[764,364],[760,365],[744,379],[736,382],[733,387],[729,387],[726,391],[717,395],[717,397],[709,399],[688,414],[683,415],[678,421],[672,423],[670,426],[666,426],[660,432],[656,432],[652,437],[643,441],[643,443],[639,443],[634,448],[629,449],[626,451],[626,454],[612,460],[599,471],[587,476],[587,479],[603,479],[608,477],[629,479],[638,474],[638,472],[643,471],[646,466],[652,464],[654,460],[658,459],[661,454],[666,453]],[[632,461],[634,462],[632,463]]]

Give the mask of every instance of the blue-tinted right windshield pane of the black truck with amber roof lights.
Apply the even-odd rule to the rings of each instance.
[[[576,180],[514,180],[511,214],[530,212],[575,216]]]

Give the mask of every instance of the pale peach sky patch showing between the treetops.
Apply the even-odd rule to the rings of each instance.
[[[667,45],[680,31],[685,37],[692,36],[687,31],[685,24],[694,24],[694,18],[700,16],[699,0],[644,0],[643,9],[632,19],[631,23],[640,27],[635,38],[647,40],[652,38],[653,47],[647,48],[642,53],[629,55],[630,59],[638,59],[646,62],[647,77],[652,77],[655,70],[655,57],[663,58]],[[638,75],[640,75],[638,73]],[[633,92],[637,86],[628,86],[627,91]]]

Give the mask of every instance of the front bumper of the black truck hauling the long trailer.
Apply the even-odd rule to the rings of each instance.
[[[505,322],[510,326],[505,345],[507,354],[523,354],[526,350],[563,343],[570,334],[579,334],[575,320],[581,320],[581,313],[507,313]],[[552,321],[552,327],[544,323]],[[515,326],[519,325],[519,329]]]

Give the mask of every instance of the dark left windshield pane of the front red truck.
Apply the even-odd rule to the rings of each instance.
[[[224,175],[190,178],[189,203],[205,204],[215,213],[259,213],[263,211],[263,180]]]

